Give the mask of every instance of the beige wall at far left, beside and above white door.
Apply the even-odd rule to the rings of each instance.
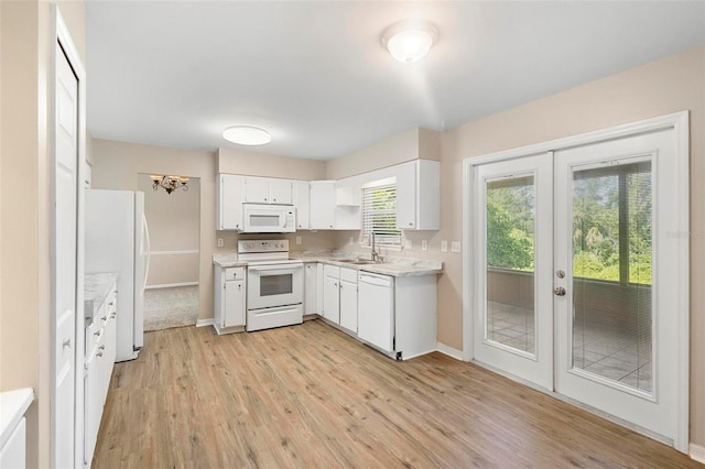
[[[59,1],[58,10],[85,59],[83,1]],[[0,391],[34,389],[28,467],[48,467],[52,6],[2,1],[0,11],[0,165],[8,178],[0,187]]]

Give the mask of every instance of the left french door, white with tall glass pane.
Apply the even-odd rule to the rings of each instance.
[[[475,168],[474,355],[553,389],[552,156]]]

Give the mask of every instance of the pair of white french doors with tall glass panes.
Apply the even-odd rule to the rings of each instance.
[[[474,166],[473,355],[683,450],[674,134]]]

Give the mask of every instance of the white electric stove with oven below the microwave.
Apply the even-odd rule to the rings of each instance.
[[[304,264],[289,259],[289,240],[238,241],[238,260],[247,261],[248,332],[303,323]]]

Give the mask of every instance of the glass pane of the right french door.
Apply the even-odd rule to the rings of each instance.
[[[574,369],[652,392],[651,163],[573,173]]]

